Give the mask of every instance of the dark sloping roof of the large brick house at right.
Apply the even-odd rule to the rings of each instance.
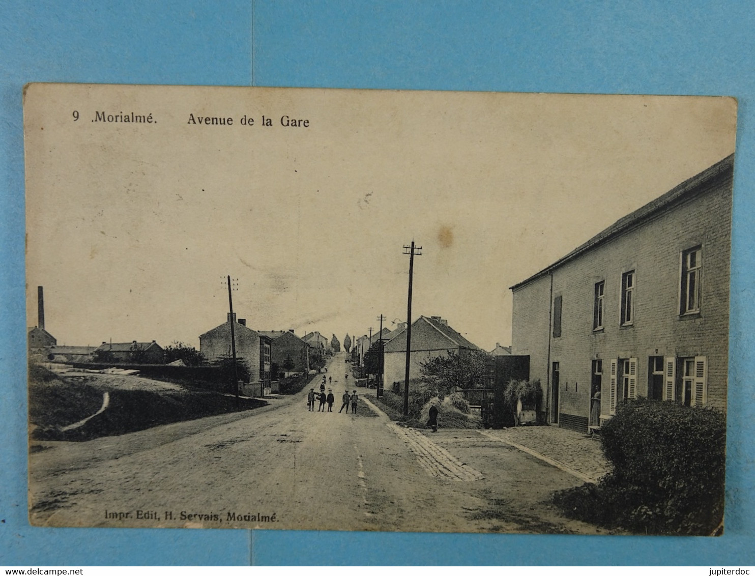
[[[584,254],[584,252],[595,248],[597,245],[600,245],[603,242],[608,242],[615,236],[627,232],[627,230],[633,229],[640,223],[643,223],[649,217],[652,217],[653,215],[658,214],[662,211],[666,211],[667,209],[680,204],[687,199],[693,198],[702,191],[701,186],[709,182],[710,180],[726,177],[727,175],[731,177],[731,174],[729,173],[733,174],[733,171],[734,155],[732,154],[731,156],[726,156],[725,159],[716,162],[716,164],[710,166],[710,168],[706,168],[699,174],[695,174],[695,176],[684,180],[683,183],[680,183],[678,186],[674,186],[667,193],[659,196],[652,202],[648,202],[642,208],[638,208],[637,210],[630,212],[630,214],[619,218],[611,226],[596,234],[591,239],[587,240],[587,242],[584,242],[584,244],[569,252],[569,254],[566,254],[564,257],[559,258],[559,260],[556,260],[556,262],[554,262],[550,266],[547,266],[547,268],[544,268],[540,272],[534,274],[533,276],[530,276],[528,279],[522,280],[522,282],[511,286],[509,289],[516,290],[517,288],[521,288],[523,285],[529,284],[529,282],[532,282],[533,280],[538,279],[541,276],[547,275],[559,266],[562,266],[562,264],[565,264],[569,262],[569,260],[573,260],[576,257],[581,256],[581,254]]]

